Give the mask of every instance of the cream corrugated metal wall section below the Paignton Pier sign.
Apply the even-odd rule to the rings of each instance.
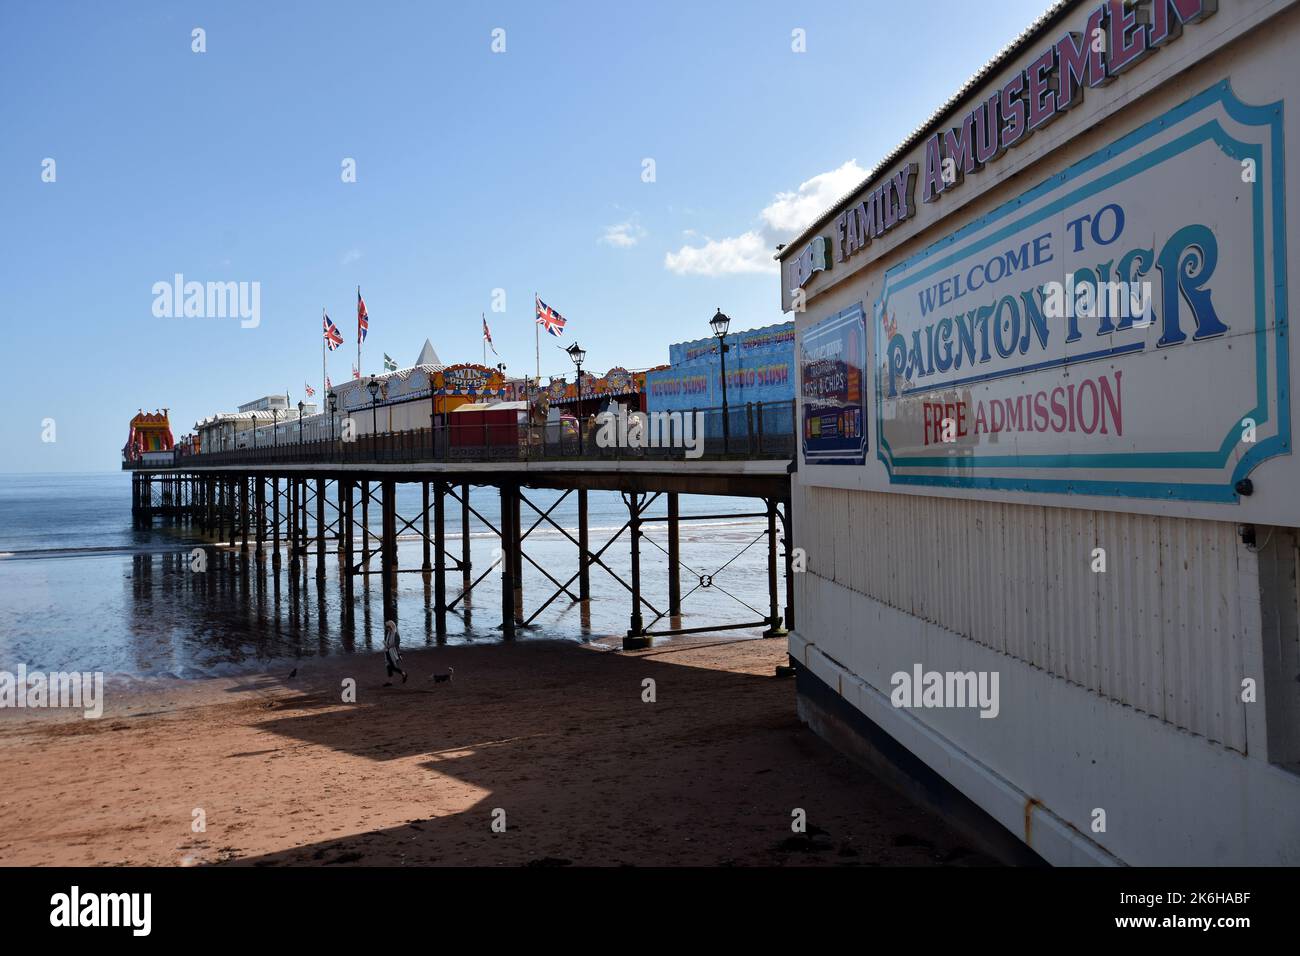
[[[796,544],[809,572],[1245,752],[1234,524],[802,493]]]

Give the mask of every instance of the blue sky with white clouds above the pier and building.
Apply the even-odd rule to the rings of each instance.
[[[1046,7],[3,0],[0,472],[116,470],[138,408],[318,399],[358,286],[365,373],[481,362],[486,312],[533,375],[534,294],[543,378],[785,321],[776,245]],[[177,273],[256,284],[256,324],[156,315]]]

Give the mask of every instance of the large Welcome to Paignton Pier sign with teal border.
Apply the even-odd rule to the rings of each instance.
[[[1280,142],[1221,83],[889,269],[890,484],[1236,501],[1290,453]]]

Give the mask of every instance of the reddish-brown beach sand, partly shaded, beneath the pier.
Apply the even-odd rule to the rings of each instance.
[[[0,864],[992,862],[800,723],[784,640],[607,644],[411,650],[394,687],[382,654],[110,684],[98,721],[0,711]]]

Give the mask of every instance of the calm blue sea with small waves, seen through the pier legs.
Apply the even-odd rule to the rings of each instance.
[[[525,489],[526,498],[569,535],[577,537],[577,496],[560,499],[554,490]],[[476,488],[471,503],[491,524],[499,520],[499,494]],[[558,503],[556,503],[558,502]],[[552,509],[554,506],[554,509]],[[666,514],[660,497],[646,516]],[[315,507],[315,506],[313,506]],[[422,545],[420,486],[400,485],[398,527],[413,522],[399,537],[398,619],[404,648],[438,643],[432,583],[419,568]],[[628,519],[620,494],[592,492],[588,498],[592,550],[599,550]],[[667,524],[644,525],[641,548],[642,606],[651,631],[719,628],[727,637],[757,637],[768,614],[767,522],[753,498],[680,496],[680,617],[656,618],[668,605]],[[333,509],[326,520],[332,520]],[[313,512],[315,514],[315,512]],[[460,554],[460,506],[448,499],[447,550]],[[360,515],[360,509],[358,509]],[[370,529],[378,544],[380,509],[370,507]],[[577,548],[562,531],[521,507],[524,553],[524,617],[533,615],[560,584],[577,574]],[[532,531],[529,531],[532,528]],[[499,549],[495,533],[471,516],[472,576],[482,580],[464,597],[462,575],[448,559],[446,644],[499,643],[500,575],[490,571]],[[306,574],[289,570],[287,555],[276,572],[204,537],[196,527],[165,524],[133,527],[131,486],[126,472],[0,475],[0,670],[101,671],[130,678],[207,678],[256,671],[276,662],[382,649],[384,601],[378,558],[374,574],[354,581],[347,614],[334,542],[326,540],[326,574],[316,575],[315,542]],[[356,546],[360,548],[358,532]],[[196,559],[196,549],[202,559]],[[250,550],[252,542],[250,540]],[[608,570],[592,566],[592,600],[560,594],[519,631],[515,640],[592,641],[627,632],[632,596],[627,531],[602,554]],[[203,570],[196,570],[202,567]],[[411,571],[408,571],[411,570]],[[784,576],[779,575],[784,609]],[[576,594],[576,579],[568,585]]]

